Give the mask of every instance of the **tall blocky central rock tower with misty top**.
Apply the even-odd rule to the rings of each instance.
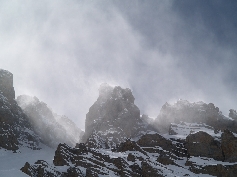
[[[86,115],[83,141],[90,147],[115,147],[146,131],[148,124],[141,120],[134,100],[130,89],[102,84],[99,98]]]

